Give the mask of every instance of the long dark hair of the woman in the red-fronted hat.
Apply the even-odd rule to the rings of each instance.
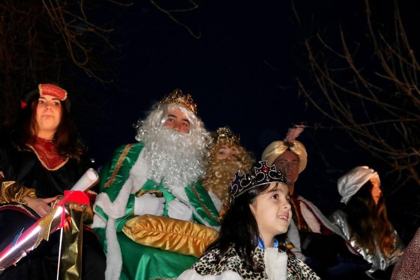
[[[21,110],[14,127],[11,129],[11,140],[21,151],[32,151],[27,144],[31,144],[37,135],[37,105],[39,94],[35,94],[28,105]],[[61,102],[61,101],[60,101]],[[61,102],[61,119],[54,134],[54,144],[62,157],[80,160],[81,154],[86,151],[79,134],[71,121],[70,114]]]

